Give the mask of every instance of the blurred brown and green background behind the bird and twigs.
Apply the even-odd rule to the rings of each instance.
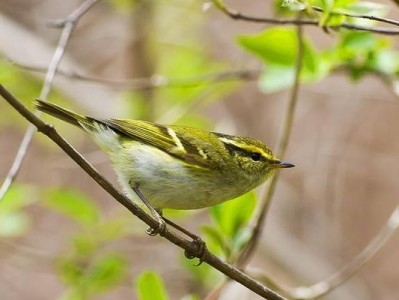
[[[81,3],[0,1],[0,83],[31,109],[61,33],[48,21],[66,17]],[[100,1],[74,31],[60,65],[72,76],[56,76],[49,101],[99,117],[248,135],[275,149],[290,80],[267,73],[267,63],[243,42],[243,37],[273,27],[234,21],[215,8],[204,9],[204,3]],[[399,18],[393,2],[378,3],[390,18]],[[272,1],[234,0],[228,5],[249,15],[277,13]],[[357,39],[317,27],[306,27],[305,34],[325,57],[336,47],[350,46],[354,54],[345,56],[346,66],[341,59],[301,83],[284,157],[296,167],[281,173],[248,266],[249,272],[262,272],[289,287],[322,281],[347,265],[382,228],[399,194],[397,97],[392,85],[381,80],[387,74],[379,76],[362,60],[377,48],[389,50],[392,55],[383,57],[383,71],[389,73],[399,61],[395,39]],[[347,46],[348,40],[355,42]],[[341,65],[346,68],[336,70]],[[42,71],[28,70],[32,68]],[[107,82],[71,78],[77,75]],[[281,80],[270,86],[268,76]],[[125,80],[132,78],[136,80]],[[0,112],[3,180],[28,124],[5,101],[0,101]],[[44,119],[117,184],[107,158],[84,133]],[[207,209],[166,215],[200,235],[204,225],[216,226]],[[180,249],[147,236],[145,229],[60,149],[36,134],[16,182],[0,203],[0,297],[144,299],[140,282],[152,276],[163,282],[169,299],[203,299],[222,282],[218,272],[206,265],[194,267],[196,262],[184,259]],[[398,299],[398,248],[396,234],[323,299]],[[217,247],[212,249],[218,253]],[[221,299],[238,297],[258,299],[234,284],[221,293]]]

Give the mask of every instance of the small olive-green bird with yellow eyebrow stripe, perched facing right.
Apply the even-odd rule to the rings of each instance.
[[[213,206],[254,189],[278,168],[294,166],[249,137],[96,119],[41,100],[37,108],[89,133],[109,155],[128,197],[139,190],[158,211]]]

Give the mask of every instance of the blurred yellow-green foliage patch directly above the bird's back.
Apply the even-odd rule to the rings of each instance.
[[[153,68],[152,80],[169,86],[124,93],[129,115],[138,119],[151,117],[152,121],[166,124],[212,128],[209,120],[198,113],[198,108],[232,93],[239,84],[215,83],[202,76],[225,70],[227,64],[215,60],[209,53],[203,32],[207,16],[201,11],[201,3],[193,0],[175,0],[169,5],[162,1],[152,3],[152,23],[148,25],[145,39],[151,55],[143,59],[149,60],[147,65]],[[133,5],[132,12],[138,7]],[[189,25],[176,22],[187,19],[188,15]]]

